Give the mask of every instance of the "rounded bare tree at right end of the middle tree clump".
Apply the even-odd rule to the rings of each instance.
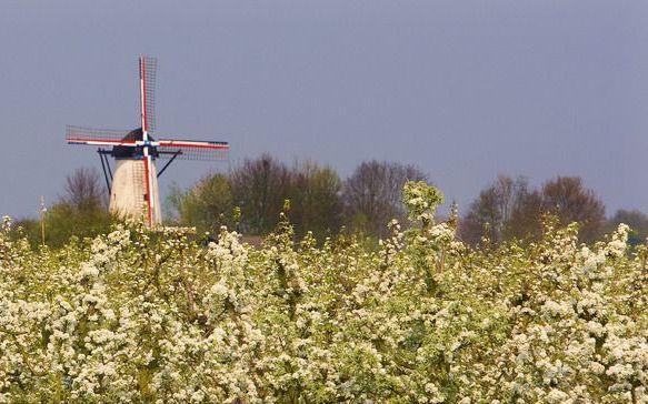
[[[391,219],[405,218],[402,186],[408,180],[427,180],[427,176],[413,165],[362,162],[342,190],[347,220],[358,230],[385,236]]]

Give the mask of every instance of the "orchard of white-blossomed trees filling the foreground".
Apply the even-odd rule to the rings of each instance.
[[[403,202],[377,249],[285,220],[261,246],[129,224],[34,250],[6,220],[0,402],[648,402],[648,248],[626,225],[473,250],[437,189]]]

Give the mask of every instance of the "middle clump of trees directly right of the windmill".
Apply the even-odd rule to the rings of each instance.
[[[328,165],[303,161],[289,166],[263,154],[188,190],[173,186],[168,213],[175,224],[208,231],[228,225],[252,235],[271,232],[285,213],[298,236],[312,232],[321,239],[345,228],[380,238],[391,219],[405,219],[401,194],[408,180],[427,175],[413,165],[372,160],[342,180]]]

